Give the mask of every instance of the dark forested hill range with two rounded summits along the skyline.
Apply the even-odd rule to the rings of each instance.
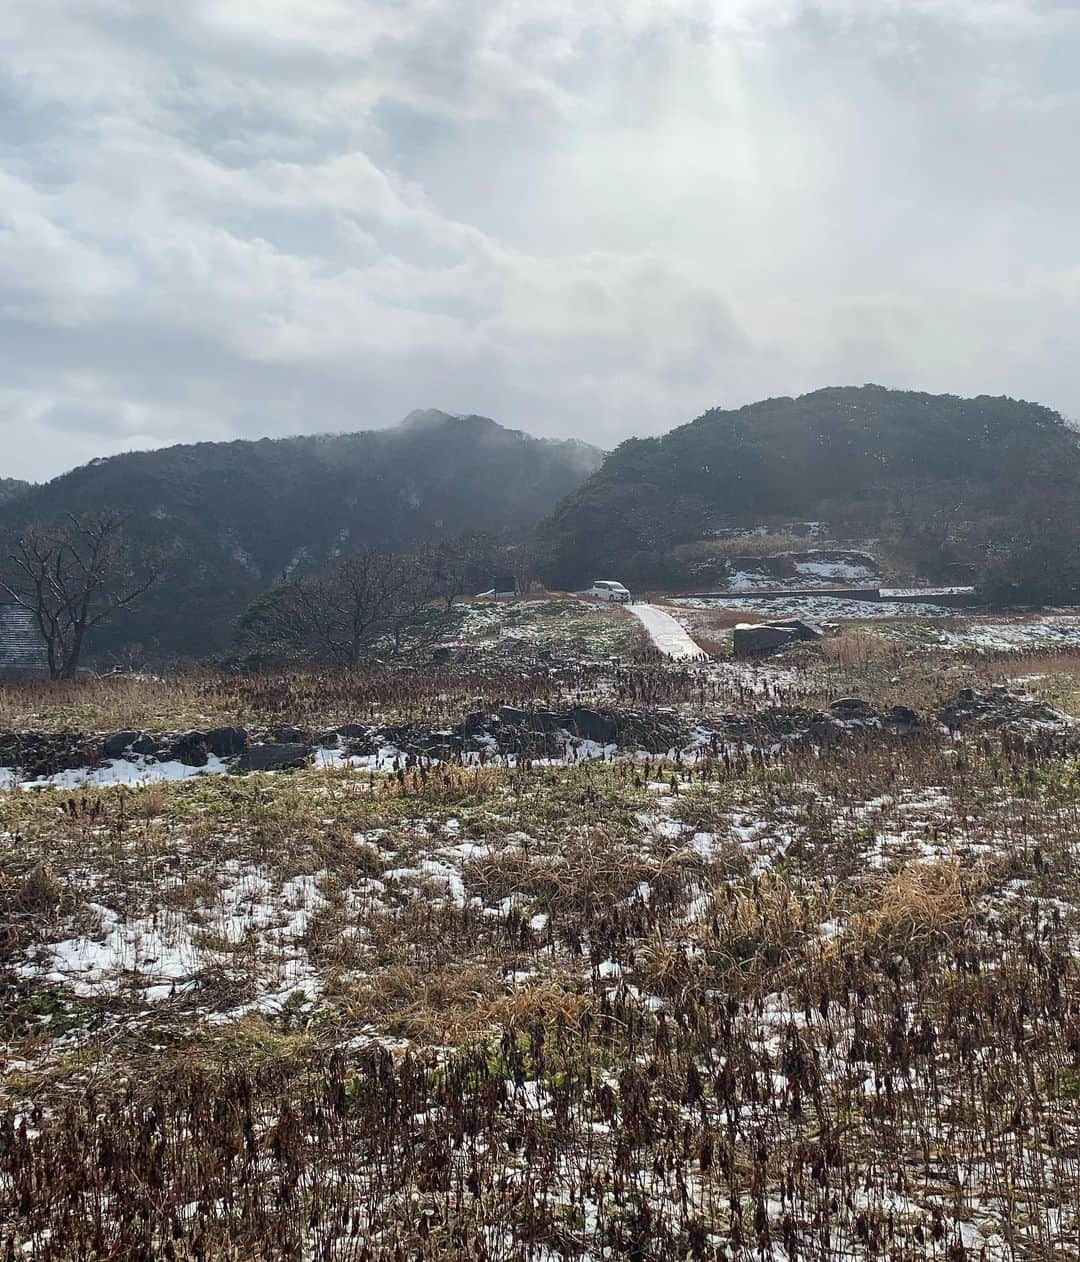
[[[860,386],[713,409],[607,458],[438,410],[386,430],[132,452],[0,485],[0,529],[129,512],[131,543],[164,555],[167,577],[93,647],[161,661],[225,649],[288,577],[473,530],[535,534],[549,586],[678,588],[722,581],[717,535],[818,520],[834,539],[884,540],[920,577],[1066,599],[1080,596],[1077,496],[1080,438],[1050,409]]]

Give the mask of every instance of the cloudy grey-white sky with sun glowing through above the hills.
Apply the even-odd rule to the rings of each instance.
[[[5,0],[0,473],[862,384],[1080,415],[1080,0]]]

